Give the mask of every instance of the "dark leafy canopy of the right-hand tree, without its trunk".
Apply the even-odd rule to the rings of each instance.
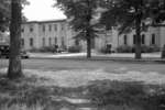
[[[118,26],[121,34],[134,29],[140,19],[141,31],[144,31],[150,25],[148,20],[154,19],[158,3],[160,0],[105,0],[107,11],[100,21],[108,30]]]

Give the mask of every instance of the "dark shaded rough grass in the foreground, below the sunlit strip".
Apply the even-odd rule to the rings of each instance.
[[[79,110],[64,99],[84,98],[95,110],[164,110],[165,87],[138,81],[96,80],[69,88],[44,85],[46,78],[29,76],[9,80],[0,76],[0,110]],[[80,106],[81,107],[81,106]],[[92,109],[91,109],[92,110]]]

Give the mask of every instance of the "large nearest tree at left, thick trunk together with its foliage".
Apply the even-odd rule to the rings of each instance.
[[[21,68],[21,22],[24,18],[21,13],[22,6],[29,4],[26,0],[1,0],[0,1],[0,31],[10,30],[10,59],[8,77],[22,76]],[[10,26],[10,28],[9,28]]]

